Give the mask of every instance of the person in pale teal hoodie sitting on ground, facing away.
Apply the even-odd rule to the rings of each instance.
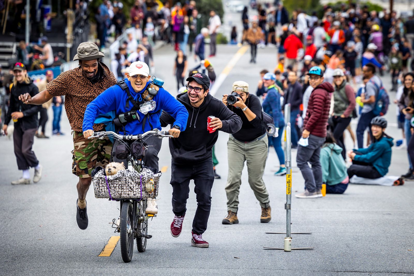
[[[332,133],[326,133],[325,144],[320,150],[322,182],[326,184],[326,193],[342,194],[348,187],[347,166],[341,155],[342,148],[336,144]]]

